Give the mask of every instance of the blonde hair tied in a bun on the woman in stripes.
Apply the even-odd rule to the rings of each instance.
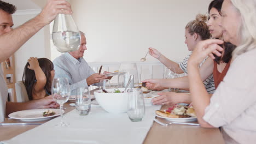
[[[190,21],[185,29],[188,29],[188,32],[191,35],[194,33],[199,34],[202,40],[210,39],[211,34],[206,24],[207,20],[208,17],[206,15],[198,14],[196,15],[196,19],[194,21]]]

